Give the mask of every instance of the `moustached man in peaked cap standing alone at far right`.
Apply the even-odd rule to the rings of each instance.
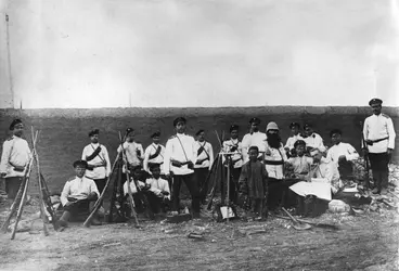
[[[388,188],[388,164],[395,149],[395,129],[392,119],[382,113],[383,101],[372,99],[369,105],[373,115],[365,118],[363,136],[366,145],[362,145],[363,152],[369,153],[373,179],[376,182],[374,193],[381,193]]]

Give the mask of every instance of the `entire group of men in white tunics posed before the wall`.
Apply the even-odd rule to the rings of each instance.
[[[382,113],[382,103],[379,99],[369,102],[373,115],[365,119],[363,127],[365,144],[362,144],[362,151],[368,154],[371,163],[374,193],[381,193],[388,185],[388,163],[396,137],[391,118]],[[331,131],[333,145],[327,150],[323,139],[309,124],[304,126],[301,133],[300,125],[292,122],[292,136],[285,144],[282,143],[280,128],[275,122],[267,125],[266,133],[259,131],[260,119],[254,117],[249,125],[249,132],[241,142],[240,127],[236,125],[230,127],[231,138],[222,142],[221,155],[229,154],[229,159],[223,155],[223,160],[228,160],[224,166],[231,167],[232,202],[237,203],[239,194],[249,193],[248,189],[249,194],[256,195],[255,199],[259,199],[260,194],[272,198],[278,194],[272,192],[273,185],[279,185],[284,179],[309,181],[311,178],[324,178],[330,181],[332,192],[335,193],[342,188],[340,180],[352,175],[351,162],[359,154],[353,146],[342,142],[343,132],[339,129]],[[192,216],[198,218],[201,203],[206,199],[208,190],[206,177],[216,160],[214,150],[205,140],[204,130],[196,132],[196,139],[185,133],[185,118],[176,118],[173,127],[176,134],[168,139],[165,147],[159,144],[160,132],[154,132],[151,136],[153,143],[145,151],[142,144],[136,142],[134,130],[127,129],[126,141],[118,147],[118,155],[123,154],[126,165],[124,172],[131,173],[131,180],[126,180],[124,193],[128,194],[130,183],[136,194],[149,191],[154,209],[165,210],[164,206],[167,205],[171,215],[177,215],[180,209],[181,183],[184,182],[192,197]],[[0,173],[5,180],[5,191],[11,199],[16,195],[31,157],[29,146],[22,138],[23,129],[20,119],[12,121],[10,130],[13,136],[4,142],[2,149]],[[65,223],[81,206],[90,208],[112,173],[108,152],[99,143],[99,133],[98,129],[89,132],[91,142],[83,149],[81,159],[74,163],[76,178],[67,181],[63,189],[61,201],[65,216],[61,220]],[[259,212],[261,204],[254,202],[254,208]]]

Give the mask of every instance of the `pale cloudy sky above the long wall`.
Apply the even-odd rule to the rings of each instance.
[[[398,0],[1,1],[17,107],[399,106]]]

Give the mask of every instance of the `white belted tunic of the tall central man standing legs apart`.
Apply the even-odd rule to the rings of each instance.
[[[194,138],[184,133],[177,133],[166,142],[164,159],[165,175],[169,175],[170,171],[175,175],[190,175],[194,172],[188,165],[175,167],[171,164],[171,160],[178,160],[180,163],[191,160],[195,165],[196,150],[194,143]]]

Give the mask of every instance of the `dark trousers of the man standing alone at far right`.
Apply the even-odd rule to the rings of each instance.
[[[389,158],[387,153],[369,153],[370,166],[378,192],[383,188],[388,188]]]

